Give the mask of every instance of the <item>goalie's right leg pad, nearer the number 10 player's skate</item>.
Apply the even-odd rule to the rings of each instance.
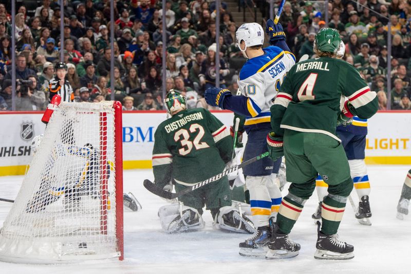
[[[214,227],[239,233],[255,233],[253,222],[233,206],[221,207],[214,220]]]

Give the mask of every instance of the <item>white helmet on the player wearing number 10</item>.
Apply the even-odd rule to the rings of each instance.
[[[240,48],[241,41],[246,43],[244,49]],[[242,24],[235,32],[235,46],[238,47],[242,55],[248,59],[246,49],[252,46],[258,46],[264,44],[264,30],[260,24],[257,23],[245,23]]]

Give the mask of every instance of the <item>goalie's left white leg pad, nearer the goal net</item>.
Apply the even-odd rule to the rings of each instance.
[[[204,221],[198,210],[184,206],[181,202],[160,207],[158,216],[162,229],[167,233],[188,232],[204,227]]]

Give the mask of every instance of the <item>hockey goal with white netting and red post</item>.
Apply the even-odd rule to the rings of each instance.
[[[54,110],[0,231],[0,260],[123,258],[121,104]]]

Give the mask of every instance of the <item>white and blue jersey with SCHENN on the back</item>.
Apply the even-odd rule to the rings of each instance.
[[[233,111],[246,115],[246,131],[256,124],[270,123],[270,107],[287,72],[295,64],[294,54],[289,51],[276,46],[263,50],[265,54],[244,64],[237,81],[241,95],[247,97],[247,102]]]

